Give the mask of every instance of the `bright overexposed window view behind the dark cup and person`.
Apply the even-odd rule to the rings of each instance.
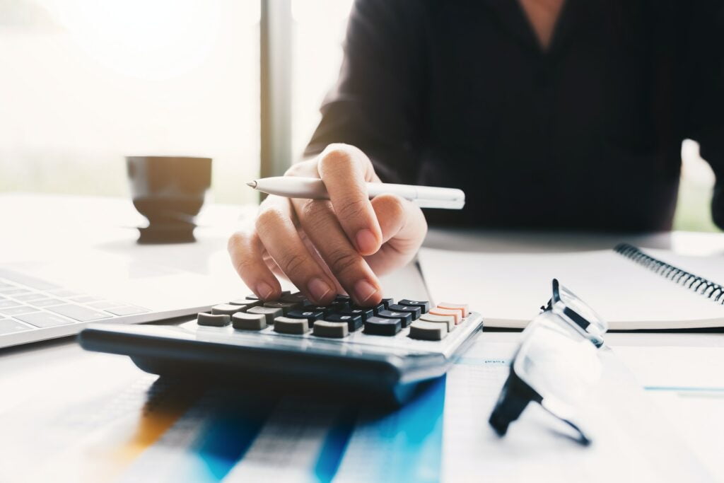
[[[287,0],[285,0],[287,1]],[[288,0],[290,156],[337,78],[352,0]],[[124,156],[214,159],[210,198],[257,200],[259,0],[0,0],[0,191],[127,196]],[[691,140],[675,228],[716,231]]]

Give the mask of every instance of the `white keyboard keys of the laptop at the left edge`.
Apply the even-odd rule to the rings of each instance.
[[[146,312],[143,307],[107,301],[0,269],[0,335]]]

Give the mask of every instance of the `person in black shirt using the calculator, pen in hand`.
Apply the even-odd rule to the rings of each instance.
[[[336,88],[287,176],[330,201],[269,196],[229,242],[261,298],[382,297],[426,223],[670,230],[681,141],[724,169],[724,7],[706,0],[358,0]],[[460,212],[365,181],[461,188]],[[724,227],[717,182],[715,222]]]

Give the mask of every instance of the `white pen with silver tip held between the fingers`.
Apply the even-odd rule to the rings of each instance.
[[[261,180],[254,180],[246,184],[262,193],[285,196],[286,198],[329,199],[327,187],[319,178],[276,176],[261,178]],[[457,188],[395,185],[384,182],[368,182],[366,184],[370,198],[384,193],[413,201],[421,208],[462,209],[465,206],[465,193]]]

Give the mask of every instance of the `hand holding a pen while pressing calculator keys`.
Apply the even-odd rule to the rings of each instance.
[[[329,145],[286,175],[321,177],[331,199],[266,198],[256,221],[229,240],[232,263],[244,283],[264,300],[279,297],[277,274],[319,305],[343,292],[359,305],[379,303],[377,274],[407,264],[425,238],[421,209],[394,195],[370,201],[365,182],[379,182],[379,177],[353,146]]]

